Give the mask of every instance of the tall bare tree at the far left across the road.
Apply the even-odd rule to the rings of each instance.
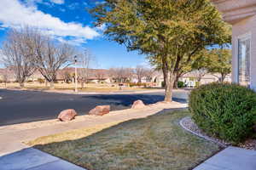
[[[15,73],[20,88],[24,87],[26,78],[35,71],[32,59],[34,56],[32,37],[34,32],[29,28],[11,29],[3,42],[3,63]]]

